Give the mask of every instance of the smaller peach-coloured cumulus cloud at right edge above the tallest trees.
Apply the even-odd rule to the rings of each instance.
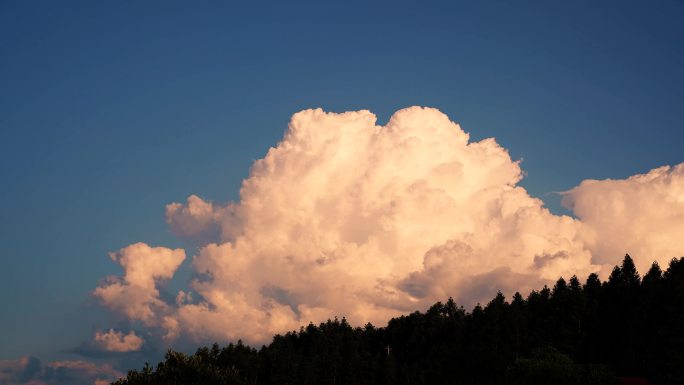
[[[563,193],[582,221],[594,260],[610,267],[629,253],[640,271],[684,255],[684,163],[627,179],[585,180]]]

